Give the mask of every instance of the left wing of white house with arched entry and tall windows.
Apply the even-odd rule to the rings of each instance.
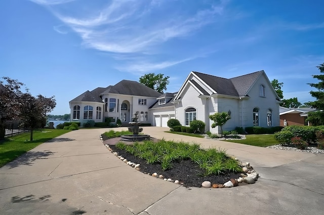
[[[120,119],[122,123],[128,123],[137,112],[138,121],[150,123],[148,108],[160,95],[139,82],[121,80],[107,88],[86,91],[71,100],[71,121],[81,124],[88,120],[103,122],[105,117],[109,117],[111,122]]]

